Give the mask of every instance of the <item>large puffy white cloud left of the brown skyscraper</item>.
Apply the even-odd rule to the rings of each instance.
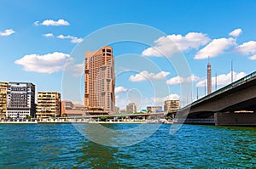
[[[55,52],[44,55],[28,54],[15,60],[15,64],[22,65],[26,71],[51,74],[63,70],[66,62],[72,60],[69,54]]]

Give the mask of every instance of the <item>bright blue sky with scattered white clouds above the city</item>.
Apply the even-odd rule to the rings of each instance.
[[[163,105],[166,99],[188,104],[205,96],[208,61],[212,65],[212,91],[216,79],[217,89],[231,82],[231,65],[233,81],[255,71],[253,0],[0,3],[0,81],[32,82],[37,91],[56,91],[62,99],[75,103],[83,102],[84,52],[101,44],[113,47],[116,105],[121,109],[130,102],[142,110],[148,105]],[[161,33],[128,30],[127,23]],[[147,42],[120,39],[105,43],[123,32],[116,25],[126,26],[130,37],[145,34]],[[100,38],[90,39],[106,26],[112,26],[112,34],[103,31]],[[89,48],[94,43],[94,48]],[[68,80],[67,70],[74,76]],[[186,70],[189,74],[183,73]],[[79,84],[73,84],[73,78]],[[191,88],[183,93],[186,84]],[[69,87],[79,92],[70,89],[73,94],[69,95]]]

